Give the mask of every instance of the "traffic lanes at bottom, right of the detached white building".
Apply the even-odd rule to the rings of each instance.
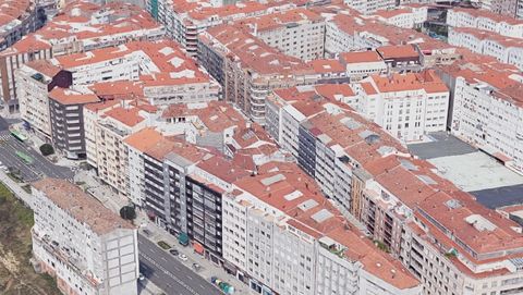
[[[171,254],[162,250],[160,247],[141,234],[138,234],[138,249],[139,254],[143,255],[145,259],[150,258],[156,263],[155,267],[160,269],[161,272],[167,271],[166,274],[169,278],[168,282],[171,285],[173,285],[174,282],[178,282],[178,284],[183,286],[185,292],[188,292],[186,294],[222,295],[217,287],[204,280],[197,273],[193,272],[192,269],[179,261],[177,257],[173,257]],[[151,281],[156,284],[155,279],[157,278],[153,276]],[[165,291],[169,292],[168,290]],[[174,293],[172,294],[180,295],[180,293],[177,292],[178,290],[174,290]],[[185,295],[184,293],[182,294]]]

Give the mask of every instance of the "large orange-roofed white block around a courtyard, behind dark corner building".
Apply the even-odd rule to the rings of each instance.
[[[134,89],[124,90],[130,95],[127,98],[139,97],[153,106],[218,100],[221,91],[218,83],[186,57],[178,44],[167,39],[131,41],[50,61],[73,73],[74,87],[89,86],[107,93],[107,83],[120,82],[125,89]],[[136,83],[124,85],[125,81]],[[112,99],[114,95],[107,98]]]

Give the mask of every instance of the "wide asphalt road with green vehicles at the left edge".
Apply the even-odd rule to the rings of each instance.
[[[34,162],[31,164],[24,162],[16,156],[16,151],[31,156]],[[51,163],[29,145],[14,138],[9,132],[9,124],[2,118],[0,118],[0,162],[8,168],[20,169],[26,182],[33,182],[42,176],[72,180],[74,175],[71,169]]]

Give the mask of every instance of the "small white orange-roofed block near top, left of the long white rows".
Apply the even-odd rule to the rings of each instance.
[[[422,27],[423,23],[427,21],[427,7],[411,4],[394,9],[378,10],[369,16],[393,26],[417,28]]]

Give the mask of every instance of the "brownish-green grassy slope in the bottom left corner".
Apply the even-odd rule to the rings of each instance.
[[[32,257],[31,228],[33,211],[0,183],[0,294],[59,295],[56,281],[48,274],[38,274],[29,262]]]

